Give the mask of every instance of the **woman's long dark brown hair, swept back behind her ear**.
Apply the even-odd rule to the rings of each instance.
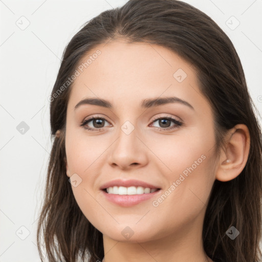
[[[190,62],[213,111],[217,155],[223,147],[225,132],[236,124],[247,125],[247,164],[235,179],[215,180],[204,219],[203,245],[212,259],[260,261],[261,128],[242,64],[229,37],[208,15],[176,0],[130,0],[122,7],[104,11],[88,21],[65,48],[50,97],[54,141],[37,228],[41,261],[41,241],[46,248],[43,253],[51,262],[75,262],[79,257],[84,261],[86,255],[89,262],[95,262],[104,256],[102,233],[81,212],[66,176],[65,119],[73,83],[67,80],[91,49],[119,37],[129,43],[163,46]],[[60,137],[55,137],[58,129]],[[240,232],[233,240],[226,235],[231,226]]]

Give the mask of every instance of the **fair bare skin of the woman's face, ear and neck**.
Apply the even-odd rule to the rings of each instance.
[[[192,65],[164,47],[123,39],[97,46],[82,61],[98,49],[101,55],[76,78],[72,88],[65,150],[67,176],[76,173],[82,180],[72,186],[75,199],[103,234],[105,261],[212,261],[202,245],[206,205],[215,179],[232,180],[245,167],[248,128],[237,125],[229,130],[226,150],[216,159],[211,106],[200,93]],[[178,69],[187,74],[182,82],[173,77]],[[194,109],[181,103],[140,107],[143,99],[169,96],[187,101]],[[74,110],[87,97],[108,100],[113,108],[84,104]],[[105,118],[101,132],[80,126],[91,116]],[[153,122],[154,117],[166,116],[182,120],[183,125],[165,130],[176,124]],[[121,130],[126,121],[134,126],[129,135]],[[96,123],[87,125],[98,128]],[[202,163],[162,203],[153,206],[202,155]],[[108,202],[99,189],[117,178],[142,180],[161,190],[150,200],[121,207]],[[134,232],[129,239],[121,233],[127,226]]]

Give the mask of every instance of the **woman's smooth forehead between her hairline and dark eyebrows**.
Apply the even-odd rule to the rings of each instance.
[[[110,100],[113,106],[140,106],[143,99],[161,96],[200,105],[205,100],[192,65],[162,46],[110,41],[90,50],[77,70],[69,106],[86,97]]]

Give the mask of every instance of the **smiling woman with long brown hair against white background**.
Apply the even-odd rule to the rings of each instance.
[[[210,17],[175,0],[102,12],[50,101],[41,260],[43,233],[48,261],[260,261],[261,130]]]

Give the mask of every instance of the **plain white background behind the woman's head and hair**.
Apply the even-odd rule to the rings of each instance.
[[[40,261],[36,225],[51,150],[48,96],[62,52],[86,21],[126,2],[0,1],[0,262]],[[262,1],[184,2],[209,15],[232,40],[262,112]],[[240,22],[234,30],[226,24],[231,16]],[[26,19],[30,25],[21,30],[16,24],[26,25]],[[16,129],[21,121],[29,126],[24,135]]]

